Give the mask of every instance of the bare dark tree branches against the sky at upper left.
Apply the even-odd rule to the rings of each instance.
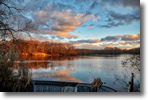
[[[37,30],[33,21],[24,16],[23,0],[0,0],[0,38],[15,40],[15,34]]]

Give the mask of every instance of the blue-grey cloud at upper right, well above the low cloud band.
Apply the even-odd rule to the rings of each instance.
[[[99,27],[111,28],[131,24],[133,21],[140,21],[140,10],[129,11],[128,13],[120,13],[108,10],[108,19],[104,25]]]

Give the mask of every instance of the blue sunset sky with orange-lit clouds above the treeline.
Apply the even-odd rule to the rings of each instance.
[[[21,6],[40,30],[30,33],[34,40],[84,49],[140,46],[140,0],[25,0]]]

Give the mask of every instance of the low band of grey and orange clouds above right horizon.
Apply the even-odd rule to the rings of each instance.
[[[107,43],[103,43],[106,41]],[[117,35],[117,36],[106,36],[99,39],[87,39],[87,40],[77,40],[69,41],[70,43],[76,44],[76,48],[89,48],[89,49],[103,49],[105,47],[118,47],[131,49],[140,46],[140,33],[137,35]],[[110,43],[112,42],[112,43]],[[100,43],[100,44],[92,44]]]

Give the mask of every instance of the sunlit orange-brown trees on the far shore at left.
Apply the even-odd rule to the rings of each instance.
[[[21,52],[22,54],[33,55],[35,53],[45,53],[55,56],[70,56],[78,55],[75,51],[75,47],[70,43],[55,43],[55,42],[40,42],[40,41],[0,41],[1,48],[13,48],[16,52]],[[5,49],[5,51],[8,51]]]

